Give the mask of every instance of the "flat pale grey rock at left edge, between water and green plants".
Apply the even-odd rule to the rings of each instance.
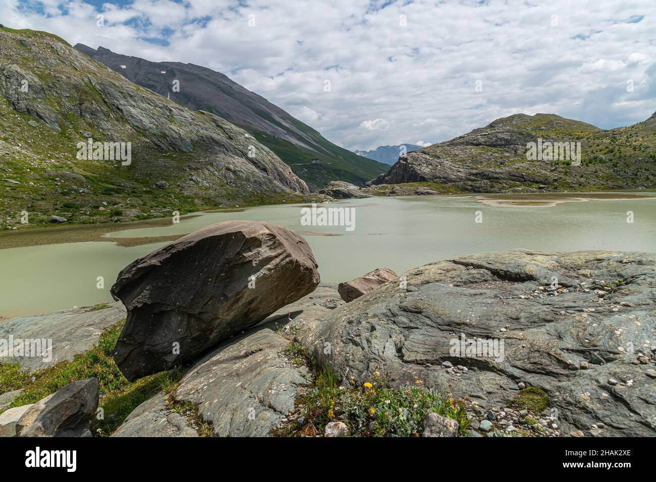
[[[0,339],[20,340],[16,348],[30,342],[30,356],[2,356],[0,363],[18,363],[30,370],[72,360],[98,343],[102,331],[125,318],[125,308],[113,302],[102,310],[73,308],[43,315],[24,315],[0,323]],[[52,345],[51,345],[52,342]],[[15,354],[15,353],[14,353]]]

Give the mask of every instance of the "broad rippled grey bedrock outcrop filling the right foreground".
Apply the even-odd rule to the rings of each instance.
[[[510,251],[405,276],[308,321],[308,355],[347,381],[389,372],[484,409],[536,386],[564,435],[656,435],[653,254]]]

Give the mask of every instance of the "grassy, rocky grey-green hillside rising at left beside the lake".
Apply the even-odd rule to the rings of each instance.
[[[81,159],[119,142],[129,161]],[[111,146],[110,146],[111,147]],[[0,29],[0,218],[131,220],[309,193],[251,134],[125,79],[48,33]]]

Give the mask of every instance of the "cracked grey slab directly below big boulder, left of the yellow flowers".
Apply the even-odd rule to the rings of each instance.
[[[176,400],[197,403],[216,435],[268,435],[310,384],[308,369],[295,367],[281,353],[289,342],[274,327],[262,325],[218,348],[180,381]]]

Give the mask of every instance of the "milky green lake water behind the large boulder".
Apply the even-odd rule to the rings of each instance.
[[[479,203],[476,196],[413,196],[319,206],[354,208],[354,230],[302,226],[302,205],[276,205],[201,213],[167,227],[117,231],[106,243],[2,249],[0,315],[45,313],[110,301],[117,273],[165,244],[119,247],[110,239],[184,234],[225,220],[265,220],[307,233],[304,237],[325,283],[346,281],[375,268],[392,268],[400,274],[453,256],[514,248],[656,252],[656,199],[494,207]],[[477,211],[482,214],[481,223],[475,222]],[[634,213],[632,224],[626,222],[627,211]],[[98,276],[104,277],[103,289],[96,287]]]

